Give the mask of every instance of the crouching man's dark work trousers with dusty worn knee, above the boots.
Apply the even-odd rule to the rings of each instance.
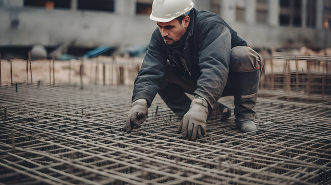
[[[231,50],[229,73],[251,72],[259,68],[261,81],[264,77],[264,62],[260,55],[252,48],[237,46]],[[221,97],[233,96],[231,78],[228,78]],[[197,80],[184,78],[176,73],[173,68],[168,67],[163,82],[160,85],[159,95],[167,106],[179,117],[183,117],[189,109],[191,100],[185,95],[194,94],[197,89]]]

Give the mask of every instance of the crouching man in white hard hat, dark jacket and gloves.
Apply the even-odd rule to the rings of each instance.
[[[235,124],[241,132],[255,135],[254,107],[264,76],[263,60],[219,15],[193,5],[191,0],[153,1],[150,19],[158,28],[134,82],[126,131],[141,126],[159,93],[181,118],[183,138],[202,138],[213,110],[221,121],[230,117],[230,108],[217,102],[222,96],[234,96]]]

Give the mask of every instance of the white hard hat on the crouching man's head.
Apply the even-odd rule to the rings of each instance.
[[[154,0],[150,20],[166,23],[193,8],[191,0]]]

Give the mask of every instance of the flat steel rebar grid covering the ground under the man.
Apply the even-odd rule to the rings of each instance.
[[[188,141],[179,138],[177,117],[158,96],[140,130],[125,133],[131,95],[127,86],[0,88],[0,182],[331,182],[330,98],[317,103],[259,98],[256,136],[240,133],[233,115],[225,122],[214,115],[205,137]],[[221,101],[233,108],[232,98]]]

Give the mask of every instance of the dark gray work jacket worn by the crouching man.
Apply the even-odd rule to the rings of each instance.
[[[247,46],[247,43],[217,14],[193,8],[189,16],[184,44],[184,66],[187,66],[184,75],[197,80],[194,94],[205,98],[213,108],[227,83],[231,48]],[[166,73],[167,60],[171,60],[167,47],[156,28],[134,82],[132,102],[145,98],[148,106],[151,105]]]

